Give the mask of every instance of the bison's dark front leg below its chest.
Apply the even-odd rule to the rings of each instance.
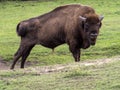
[[[73,54],[75,62],[79,62],[80,61],[80,53],[81,53],[80,48],[78,48],[77,46],[74,46],[74,45],[73,46],[70,45],[69,49]]]

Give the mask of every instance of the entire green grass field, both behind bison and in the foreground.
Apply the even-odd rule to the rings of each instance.
[[[81,3],[92,6],[104,15],[103,26],[97,43],[82,50],[81,61],[120,56],[120,1],[119,0],[48,0],[0,2],[0,57],[8,63],[20,43],[16,25],[25,19],[42,15],[57,6]],[[74,63],[68,46],[51,50],[40,45],[33,48],[27,61],[35,66]],[[104,65],[79,66],[68,71],[39,74],[32,68],[26,70],[0,71],[0,90],[120,90],[120,62]],[[29,71],[29,69],[27,69]]]

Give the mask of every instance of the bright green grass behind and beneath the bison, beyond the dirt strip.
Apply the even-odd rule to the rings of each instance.
[[[51,0],[48,2],[11,1],[0,3],[0,57],[5,61],[11,61],[17,51],[20,38],[17,36],[15,29],[18,22],[44,14],[59,5],[70,3],[90,5],[95,8],[97,13],[105,17],[96,46],[82,50],[81,60],[119,55],[120,2],[118,0],[109,0],[109,2],[104,0]],[[50,49],[36,46],[28,60],[36,60],[40,62],[39,65],[74,62],[67,45],[57,47],[54,55],[51,55]]]

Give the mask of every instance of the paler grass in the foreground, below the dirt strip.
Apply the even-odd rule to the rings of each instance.
[[[80,66],[40,74],[37,69],[2,71],[0,90],[119,90],[120,63]],[[31,70],[31,72],[27,72]]]

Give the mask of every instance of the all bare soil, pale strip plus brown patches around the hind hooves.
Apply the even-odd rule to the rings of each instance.
[[[51,65],[51,66],[31,66],[30,62],[26,62],[25,72],[33,72],[37,71],[39,74],[47,74],[51,72],[61,72],[67,71],[68,68],[75,68],[78,66],[93,66],[93,65],[103,65],[107,63],[112,63],[120,61],[120,56],[113,57],[113,58],[106,58],[106,59],[97,59],[97,60],[90,60],[90,61],[81,61],[79,63],[71,63],[71,64],[64,64],[64,65]],[[5,62],[0,58],[0,70],[9,70],[10,62]],[[19,68],[19,64],[16,65],[15,70]],[[31,67],[30,67],[31,66]],[[29,67],[29,68],[28,68]]]

